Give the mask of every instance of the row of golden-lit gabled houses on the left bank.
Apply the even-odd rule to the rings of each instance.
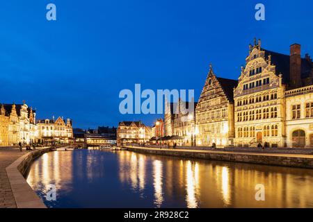
[[[22,144],[69,143],[73,138],[72,120],[36,120],[36,110],[23,104],[0,105],[0,146]]]

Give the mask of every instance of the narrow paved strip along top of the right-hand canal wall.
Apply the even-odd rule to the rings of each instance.
[[[125,146],[127,147],[127,146]],[[160,148],[147,148],[142,146],[129,146],[132,148],[144,148],[147,150],[160,150]],[[162,151],[182,151],[182,152],[191,152],[191,153],[233,153],[241,155],[265,155],[265,156],[276,156],[276,157],[301,157],[301,158],[310,158],[313,159],[313,155],[309,154],[295,154],[295,153],[259,153],[259,152],[240,152],[240,151],[223,151],[223,150],[195,150],[195,149],[179,149],[179,148],[162,148]]]

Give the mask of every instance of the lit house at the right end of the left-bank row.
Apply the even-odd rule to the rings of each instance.
[[[73,139],[72,120],[67,119],[66,123],[62,117],[56,121],[53,119],[40,119],[37,123],[38,138],[41,143],[69,144]]]

